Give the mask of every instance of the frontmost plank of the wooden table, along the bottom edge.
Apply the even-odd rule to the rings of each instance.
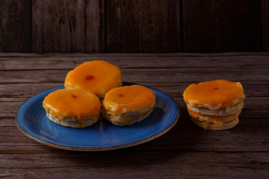
[[[58,155],[43,156],[3,155],[4,176],[32,178],[36,174],[46,177],[67,178],[87,177],[122,178],[175,178],[175,177],[262,177],[267,176],[267,153],[215,153],[215,152],[162,152],[154,151],[114,151],[107,153],[75,154],[67,151]],[[71,154],[71,156],[70,156]],[[67,157],[69,156],[69,157]],[[133,156],[136,156],[135,158]],[[48,160],[50,159],[50,160]],[[32,161],[37,161],[33,163]],[[117,162],[115,162],[117,161]],[[222,164],[221,166],[219,164]],[[170,170],[167,170],[170,168]],[[191,172],[194,171],[195,172]],[[223,170],[226,171],[223,176]],[[222,171],[222,175],[216,171]],[[229,172],[227,172],[229,171]],[[98,172],[98,175],[96,173]],[[120,173],[117,175],[113,175]]]

